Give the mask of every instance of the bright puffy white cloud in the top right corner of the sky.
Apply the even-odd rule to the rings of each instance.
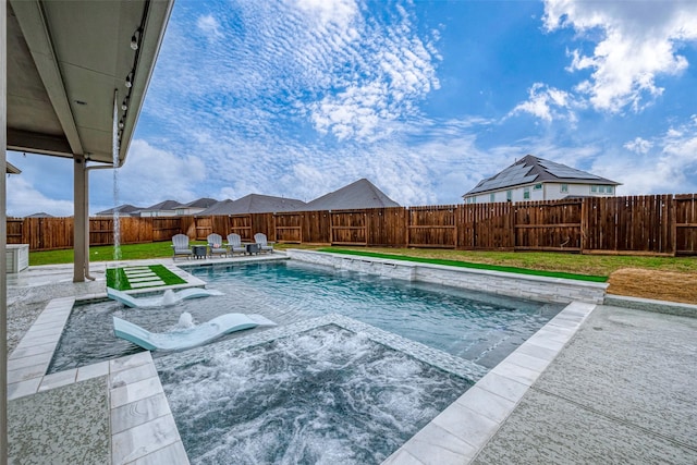
[[[688,65],[678,53],[697,40],[697,2],[546,0],[545,27],[572,27],[582,37],[600,39],[592,52],[571,52],[570,71],[588,70],[576,86],[597,110],[640,111],[663,93],[661,75],[676,75]]]

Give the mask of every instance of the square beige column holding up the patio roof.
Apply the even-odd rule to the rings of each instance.
[[[73,282],[84,282],[89,260],[87,241],[89,223],[87,221],[87,170],[82,155],[73,156]]]

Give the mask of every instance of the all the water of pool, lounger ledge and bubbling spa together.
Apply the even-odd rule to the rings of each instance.
[[[195,323],[225,313],[276,321],[154,353],[193,464],[380,463],[473,386],[466,367],[493,367],[562,308],[294,261],[191,272],[223,295],[77,306],[50,370],[138,352],[113,336],[112,316],[156,332],[178,329],[184,313]]]

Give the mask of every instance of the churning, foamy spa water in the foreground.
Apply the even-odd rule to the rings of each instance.
[[[472,381],[334,325],[158,358],[192,464],[378,464]]]

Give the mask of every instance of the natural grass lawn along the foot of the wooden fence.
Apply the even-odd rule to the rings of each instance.
[[[204,244],[204,242],[198,242]],[[432,248],[384,248],[384,247],[310,247],[295,244],[276,244],[277,249],[315,248],[332,252],[356,250],[358,253],[383,254],[390,257],[408,257],[412,260],[428,259],[431,262],[456,261],[457,266],[491,266],[522,269],[517,272],[543,271],[571,273],[601,279],[621,268],[640,268],[661,271],[697,273],[697,257],[638,257],[617,255],[578,255],[548,252],[470,252]],[[172,256],[171,242],[126,244],[121,246],[121,260],[163,258]],[[113,260],[112,246],[89,248],[90,261]],[[73,250],[30,252],[29,265],[71,264]]]

